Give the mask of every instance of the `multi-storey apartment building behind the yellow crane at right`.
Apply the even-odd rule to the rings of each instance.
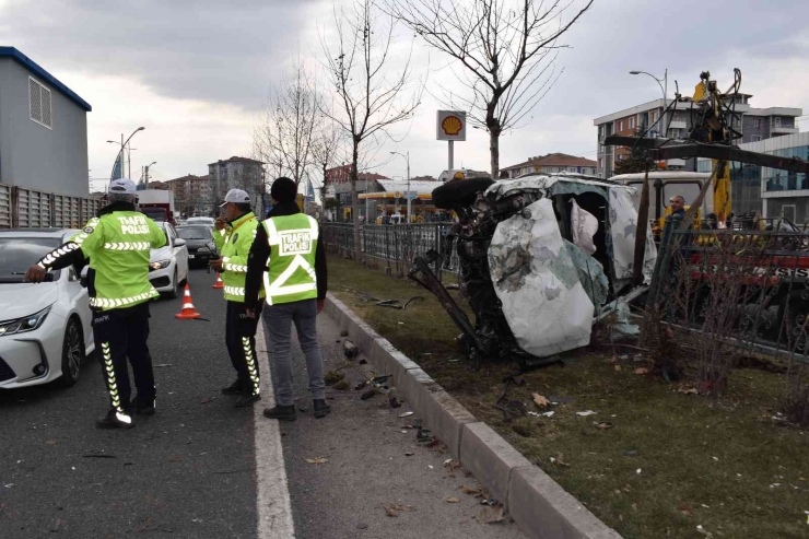
[[[730,126],[742,134],[737,143],[758,142],[774,137],[798,132],[795,119],[804,114],[795,107],[753,108],[750,106],[750,94],[738,94],[729,101],[732,110]],[[696,118],[696,104],[690,97],[677,103],[676,107],[664,114],[671,99],[655,99],[648,103],[608,114],[593,120],[597,129],[597,171],[602,178],[613,176],[615,163],[630,154],[629,148],[607,147],[603,140],[611,134],[632,137],[647,132],[647,137],[668,136],[672,139],[688,138]],[[735,103],[734,103],[735,101]],[[668,160],[666,163],[673,171],[696,171],[696,160]]]

